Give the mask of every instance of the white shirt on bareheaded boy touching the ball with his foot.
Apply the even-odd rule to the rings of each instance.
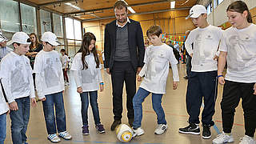
[[[174,82],[178,82],[178,61],[174,57],[173,49],[166,44],[148,46],[144,57],[145,64],[138,74],[141,77],[145,75],[140,87],[154,94],[166,94],[169,62],[172,67]]]

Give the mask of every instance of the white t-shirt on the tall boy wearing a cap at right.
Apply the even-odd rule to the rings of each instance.
[[[198,27],[190,32],[185,46],[187,52],[193,54],[191,71],[206,72],[218,70],[218,62],[213,58],[218,51],[222,31],[220,27],[209,25],[206,28]],[[193,50],[192,43],[194,44]]]

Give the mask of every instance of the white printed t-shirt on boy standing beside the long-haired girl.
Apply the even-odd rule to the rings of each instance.
[[[62,62],[55,50],[38,52],[34,61],[35,84],[38,98],[47,94],[55,94],[65,89]]]

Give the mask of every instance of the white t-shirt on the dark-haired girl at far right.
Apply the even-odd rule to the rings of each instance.
[[[227,52],[226,80],[256,82],[256,25],[238,30],[230,27],[223,33],[220,51]]]

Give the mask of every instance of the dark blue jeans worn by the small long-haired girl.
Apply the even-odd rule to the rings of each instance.
[[[98,112],[98,91],[89,91],[89,92],[83,92],[80,94],[81,102],[82,102],[82,125],[87,126],[88,125],[88,106],[89,106],[89,99],[88,94],[90,94],[90,106],[93,110],[94,114],[94,123],[95,125],[100,124],[100,118],[99,118],[99,112]]]

